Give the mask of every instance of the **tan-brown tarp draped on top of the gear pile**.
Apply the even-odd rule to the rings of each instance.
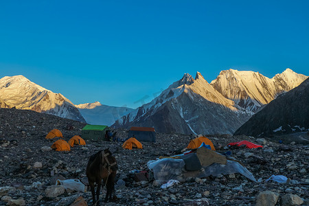
[[[227,163],[227,158],[224,155],[204,147],[198,148],[196,150],[196,155],[200,160],[201,165],[205,167],[211,165],[212,163],[220,163],[223,165]]]

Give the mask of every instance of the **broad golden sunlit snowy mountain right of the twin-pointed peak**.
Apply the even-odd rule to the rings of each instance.
[[[254,71],[229,69],[221,71],[211,85],[225,98],[249,111],[258,111],[282,92],[297,87],[307,77],[286,69],[283,73],[267,78]]]

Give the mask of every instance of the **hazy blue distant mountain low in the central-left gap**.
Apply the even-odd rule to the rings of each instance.
[[[75,105],[88,124],[111,126],[120,117],[127,115],[133,108],[107,106],[100,102]]]

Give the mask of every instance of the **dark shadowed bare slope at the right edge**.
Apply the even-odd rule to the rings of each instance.
[[[235,135],[264,137],[309,131],[309,78],[279,95],[244,123]]]

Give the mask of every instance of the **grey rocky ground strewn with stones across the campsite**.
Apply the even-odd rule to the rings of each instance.
[[[45,139],[53,128],[61,130],[68,141],[81,135],[85,124],[52,115],[0,109],[0,205],[71,205],[82,196],[91,205],[91,192],[59,190],[51,195],[56,179],[80,179],[87,183],[86,165],[91,155],[110,148],[116,157],[117,203],[107,205],[309,205],[309,147],[308,144],[279,144],[276,139],[255,139],[246,136],[209,135],[218,152],[227,152],[227,144],[248,140],[262,144],[262,149],[235,148],[231,157],[241,161],[252,172],[257,183],[240,174],[221,175],[185,181],[161,189],[157,181],[135,182],[130,171],[147,170],[147,162],[183,149],[190,136],[159,134],[156,143],[142,142],[141,150],[124,150],[122,143],[87,141],[86,146],[74,146],[70,152],[45,150],[54,140]],[[73,130],[67,130],[73,126]],[[118,137],[126,138],[126,130],[117,129]],[[265,182],[272,174],[288,177],[287,183]],[[123,185],[126,183],[126,185]],[[61,186],[58,186],[61,187]],[[105,190],[104,190],[105,192]],[[102,205],[105,203],[102,203]],[[263,205],[263,204],[262,204]]]

